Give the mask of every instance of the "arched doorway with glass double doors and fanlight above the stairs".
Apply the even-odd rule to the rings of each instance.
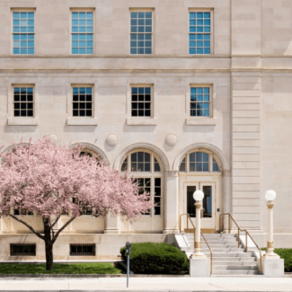
[[[205,197],[201,228],[205,233],[215,233],[219,229],[219,215],[222,209],[222,165],[217,155],[201,148],[183,155],[179,181],[181,214],[188,213],[195,225],[193,193],[202,190]],[[186,219],[182,221],[182,225],[186,226]]]

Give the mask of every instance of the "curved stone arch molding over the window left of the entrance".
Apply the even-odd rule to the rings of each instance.
[[[157,155],[161,159],[161,162],[162,162],[162,164],[164,166],[164,171],[170,171],[170,167],[171,166],[170,166],[170,163],[168,161],[168,158],[164,154],[164,151],[162,151],[157,146],[149,144],[149,143],[146,143],[146,142],[139,142],[139,143],[135,143],[135,144],[131,144],[131,145],[127,146],[117,156],[117,158],[116,158],[116,160],[115,160],[115,162],[113,164],[113,168],[114,169],[119,169],[120,168],[120,164],[122,163],[123,159],[128,154],[128,152],[130,152],[132,150],[135,150],[135,149],[146,149],[146,150],[150,150],[150,151],[154,152],[155,155]]]

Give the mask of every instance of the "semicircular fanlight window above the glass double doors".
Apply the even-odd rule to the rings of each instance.
[[[221,173],[216,155],[207,150],[192,151],[181,160],[181,173]]]

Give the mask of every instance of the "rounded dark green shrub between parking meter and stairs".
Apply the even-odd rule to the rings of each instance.
[[[127,261],[126,248],[120,253]],[[189,260],[184,252],[168,243],[132,243],[129,267],[137,274],[184,274]]]

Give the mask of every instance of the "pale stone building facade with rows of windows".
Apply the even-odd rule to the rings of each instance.
[[[157,203],[133,225],[78,218],[58,239],[57,258],[72,242],[97,243],[106,257],[127,240],[165,241],[199,189],[205,232],[231,213],[261,246],[264,193],[276,190],[275,244],[291,247],[291,1],[3,0],[0,8],[6,151],[13,139],[44,135],[82,143],[113,168],[131,168]],[[25,220],[41,230],[39,218]],[[0,259],[8,243],[39,240],[4,218]]]

